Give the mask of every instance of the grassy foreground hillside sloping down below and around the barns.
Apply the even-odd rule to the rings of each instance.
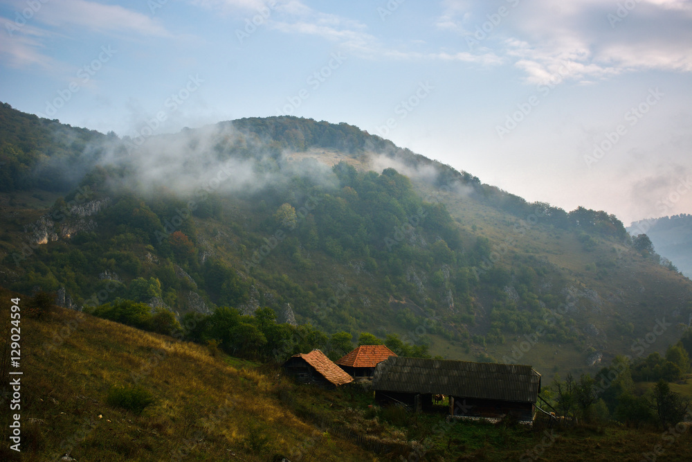
[[[0,291],[3,337],[14,296]],[[298,386],[276,368],[89,314],[54,308],[35,319],[24,306],[22,452],[8,450],[3,412],[3,460],[68,452],[78,461],[639,461],[657,450],[656,460],[677,461],[692,443],[682,427],[446,423],[381,409],[357,389]],[[130,396],[148,398],[143,409],[117,399],[135,387]]]

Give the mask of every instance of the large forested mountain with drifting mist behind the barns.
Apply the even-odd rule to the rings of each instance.
[[[310,326],[293,335],[371,332],[544,373],[662,352],[692,321],[689,279],[614,215],[528,203],[346,123],[129,139],[9,105],[0,123],[0,284],[69,308],[129,300],[182,322],[266,307]],[[291,353],[253,338],[255,357]]]

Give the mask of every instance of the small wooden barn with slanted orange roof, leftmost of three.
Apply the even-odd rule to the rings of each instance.
[[[300,383],[327,389],[353,382],[353,377],[331,362],[320,350],[291,356],[284,362],[284,371]]]

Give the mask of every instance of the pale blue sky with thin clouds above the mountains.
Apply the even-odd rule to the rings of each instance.
[[[120,136],[346,122],[571,211],[692,213],[692,1],[0,0],[0,101]]]

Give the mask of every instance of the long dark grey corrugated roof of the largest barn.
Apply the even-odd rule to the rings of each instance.
[[[392,356],[375,368],[372,389],[536,402],[540,374],[519,364]]]

